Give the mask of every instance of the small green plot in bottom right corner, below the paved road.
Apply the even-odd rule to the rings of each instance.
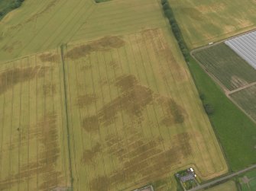
[[[256,189],[256,170],[243,174],[238,178],[241,191],[251,191]]]

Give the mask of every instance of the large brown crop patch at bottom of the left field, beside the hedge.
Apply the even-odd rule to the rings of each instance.
[[[57,158],[60,155],[56,123],[57,116],[54,113],[48,113],[36,124],[36,128],[33,129],[34,138],[38,136],[42,146],[39,151],[38,163],[31,161],[29,164],[22,165],[20,173],[15,173],[6,180],[0,181],[0,190],[11,188],[11,186],[31,179],[37,176],[37,173],[43,179],[39,190],[53,189],[62,182],[63,177],[56,170]]]

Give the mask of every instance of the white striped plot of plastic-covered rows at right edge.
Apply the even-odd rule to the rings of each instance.
[[[225,44],[256,69],[256,31],[227,40]]]

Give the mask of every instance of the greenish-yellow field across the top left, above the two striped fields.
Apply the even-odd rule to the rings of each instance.
[[[153,0],[26,0],[0,22],[0,57],[8,61],[61,43],[162,26],[163,14]]]

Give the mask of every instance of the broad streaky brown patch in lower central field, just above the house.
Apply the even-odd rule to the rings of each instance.
[[[170,173],[173,165],[180,164],[181,159],[187,158],[191,154],[190,136],[188,133],[181,133],[173,136],[170,148],[163,148],[160,145],[164,142],[162,138],[139,139],[128,142],[129,153],[127,153],[126,142],[122,138],[116,137],[107,139],[110,155],[115,156],[124,163],[120,169],[113,170],[108,176],[107,183],[114,186],[118,183],[125,183],[141,177],[147,182],[154,181],[156,177],[163,177]],[[122,148],[118,148],[118,147]],[[116,151],[115,151],[116,149]],[[92,180],[94,183],[96,180]],[[100,190],[96,187],[96,190]]]

